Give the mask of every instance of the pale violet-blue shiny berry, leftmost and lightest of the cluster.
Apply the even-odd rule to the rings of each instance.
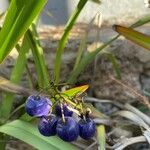
[[[44,96],[31,95],[25,103],[25,111],[30,116],[41,117],[47,116],[52,102]]]

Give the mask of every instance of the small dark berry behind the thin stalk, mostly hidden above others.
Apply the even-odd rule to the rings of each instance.
[[[56,105],[55,111],[56,111],[56,115],[57,115],[58,117],[61,117],[61,116],[62,116],[60,105]],[[63,112],[64,112],[64,116],[70,116],[70,117],[71,117],[72,114],[73,114],[73,111],[69,110],[69,109],[67,108],[67,105],[66,105],[66,104],[63,104]]]

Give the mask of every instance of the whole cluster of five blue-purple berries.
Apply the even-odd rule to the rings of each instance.
[[[88,115],[82,114],[77,122],[67,104],[60,103],[54,110],[52,108],[51,100],[44,96],[31,95],[26,100],[25,110],[30,116],[40,119],[38,129],[42,135],[57,135],[67,142],[75,141],[78,136],[86,140],[94,136],[96,125]]]

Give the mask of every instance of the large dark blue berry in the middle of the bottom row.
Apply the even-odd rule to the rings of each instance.
[[[65,122],[60,118],[56,127],[57,135],[64,141],[75,141],[79,136],[79,126],[72,117],[65,117]]]

